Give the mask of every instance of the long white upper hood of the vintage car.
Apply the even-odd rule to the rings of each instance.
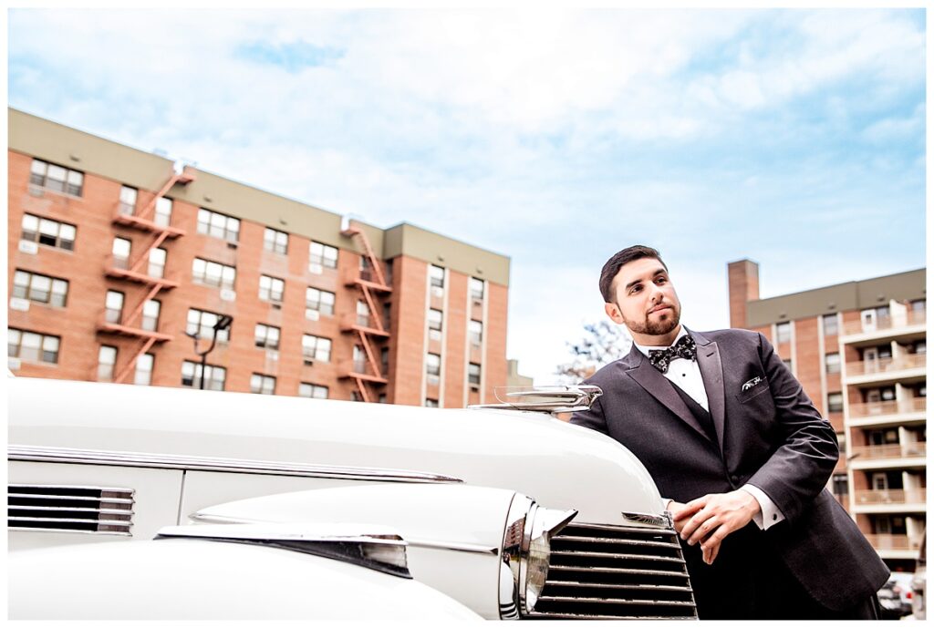
[[[10,446],[404,469],[517,490],[578,521],[663,509],[629,450],[546,414],[33,378],[7,390]]]

